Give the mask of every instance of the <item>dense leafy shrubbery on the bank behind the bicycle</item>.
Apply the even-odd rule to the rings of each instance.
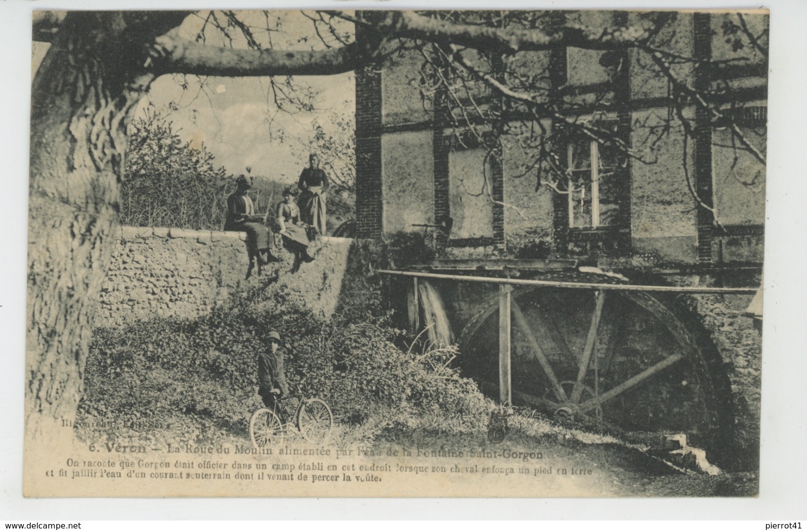
[[[290,346],[286,378],[303,380],[305,394],[325,399],[337,423],[443,415],[462,430],[484,421],[482,394],[448,365],[455,350],[409,351],[384,316],[325,321],[293,294],[260,288],[199,319],[97,330],[79,419],[162,424],[162,436],[176,443],[246,436],[249,415],[261,406],[257,353],[273,329]]]

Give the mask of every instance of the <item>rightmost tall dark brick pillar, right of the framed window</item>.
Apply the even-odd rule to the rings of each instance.
[[[695,13],[692,16],[694,24],[694,56],[698,60],[706,61],[712,56],[712,28],[709,13]],[[700,62],[695,67],[694,86],[696,90],[709,90],[708,62]],[[701,108],[695,110],[695,190],[707,206],[713,207],[713,175],[712,175],[712,126],[709,122],[709,113]],[[697,245],[698,262],[709,264],[712,262],[712,239],[714,233],[712,212],[697,207]]]

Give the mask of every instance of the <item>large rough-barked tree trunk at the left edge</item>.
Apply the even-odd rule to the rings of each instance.
[[[115,244],[126,127],[149,43],[184,15],[73,12],[32,88],[26,435],[72,420]],[[67,429],[62,429],[64,432]]]

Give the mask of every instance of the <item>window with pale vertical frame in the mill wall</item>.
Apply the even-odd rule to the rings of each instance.
[[[613,227],[619,223],[619,187],[624,156],[596,140],[579,138],[567,147],[570,228]]]

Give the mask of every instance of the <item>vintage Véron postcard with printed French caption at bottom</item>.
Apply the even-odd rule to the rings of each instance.
[[[24,494],[758,495],[768,27],[36,11]]]

